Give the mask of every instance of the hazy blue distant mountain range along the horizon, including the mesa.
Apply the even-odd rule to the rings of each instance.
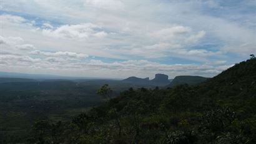
[[[87,78],[87,77],[64,77],[58,75],[41,75],[41,74],[22,74],[22,73],[15,73],[15,72],[0,72],[0,83],[6,82],[36,82],[36,81],[66,81],[72,80],[76,82],[85,82],[88,80],[92,80],[91,82],[94,83],[114,83],[114,84],[121,84],[127,83],[130,85],[142,85],[142,86],[159,86],[159,87],[174,87],[175,85],[180,84],[189,84],[189,85],[196,85],[201,82],[204,82],[209,78],[200,77],[200,76],[191,76],[191,75],[179,75],[174,79],[168,79],[168,75],[165,74],[155,74],[155,78],[150,80],[149,77],[146,78],[139,78],[139,77],[128,77],[124,80],[114,80],[114,79],[104,79],[104,78]],[[99,81],[101,80],[101,81]]]

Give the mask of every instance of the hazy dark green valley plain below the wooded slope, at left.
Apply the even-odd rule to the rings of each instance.
[[[120,80],[32,80],[0,78],[0,143],[25,142],[32,123],[40,119],[67,122],[102,104],[96,91],[103,84],[122,90],[142,85]],[[3,142],[3,140],[5,142]]]

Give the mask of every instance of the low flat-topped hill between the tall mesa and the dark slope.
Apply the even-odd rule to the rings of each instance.
[[[175,85],[181,85],[181,84],[189,84],[189,85],[197,85],[201,82],[204,82],[205,80],[210,79],[207,77],[200,77],[200,76],[191,76],[191,75],[179,75],[170,82],[167,87],[174,87]]]

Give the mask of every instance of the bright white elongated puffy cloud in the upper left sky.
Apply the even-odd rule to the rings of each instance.
[[[49,27],[49,26],[47,26]],[[99,31],[100,26],[95,24],[75,24],[64,25],[57,27],[56,29],[43,29],[42,33],[47,36],[62,37],[67,39],[84,39],[89,37],[105,37],[107,33]]]

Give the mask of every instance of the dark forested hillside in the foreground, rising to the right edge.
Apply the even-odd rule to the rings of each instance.
[[[26,138],[0,143],[256,143],[256,59],[199,85],[124,90],[70,121],[37,120]]]

